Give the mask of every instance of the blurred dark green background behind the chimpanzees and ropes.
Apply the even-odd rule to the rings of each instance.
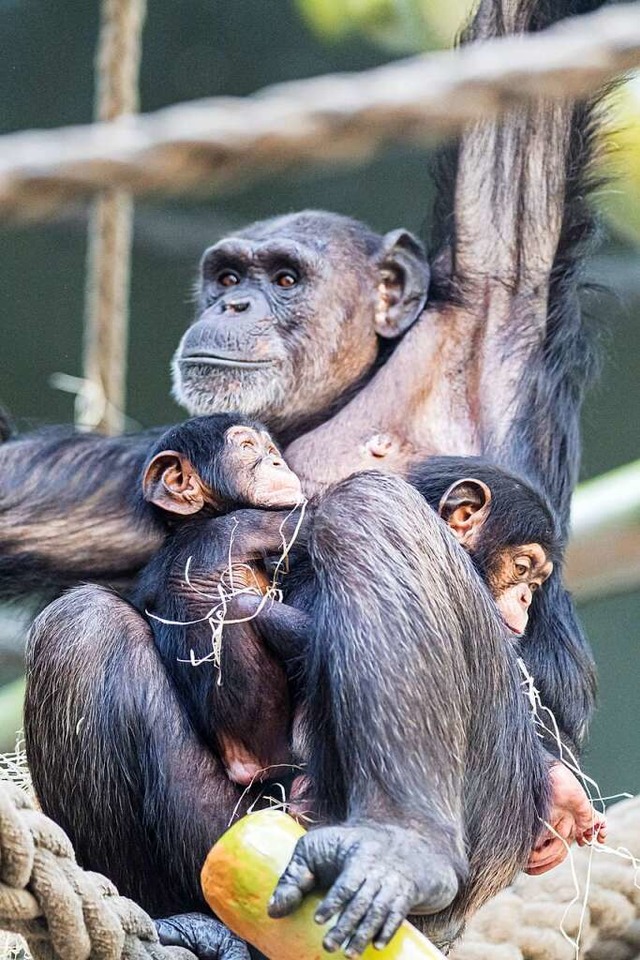
[[[465,7],[466,0],[149,0],[142,109],[372,67],[447,42]],[[98,12],[95,0],[0,0],[2,132],[91,119]],[[640,108],[636,122],[640,127]],[[640,151],[633,162],[628,189],[608,188],[617,217],[603,228],[589,263],[590,279],[608,292],[586,300],[605,366],[584,413],[584,477],[640,457],[640,254],[633,230],[634,220],[640,223],[633,184]],[[258,217],[322,207],[376,229],[402,225],[428,234],[431,201],[425,151],[397,148],[357,169],[288,173],[216,198],[138,205],[127,409],[134,424],[182,415],[169,396],[169,359],[191,316],[199,254],[221,233]],[[0,232],[0,402],[23,428],[73,418],[72,398],[53,389],[50,378],[81,372],[85,229],[84,212],[75,210],[53,224]],[[591,602],[581,614],[601,676],[586,765],[603,794],[637,792],[640,592]],[[22,671],[16,616],[0,616],[0,688]],[[16,691],[0,689],[0,723],[8,700],[15,703]],[[7,749],[13,729],[6,722],[0,737]]]

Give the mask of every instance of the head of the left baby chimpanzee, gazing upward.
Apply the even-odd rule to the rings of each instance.
[[[175,518],[225,513],[239,504],[289,507],[302,494],[262,424],[218,414],[187,420],[160,437],[143,469],[142,496]]]

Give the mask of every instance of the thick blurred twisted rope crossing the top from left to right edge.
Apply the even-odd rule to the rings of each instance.
[[[51,216],[105,187],[178,194],[301,165],[362,161],[384,144],[433,141],[540,96],[588,96],[637,66],[640,3],[631,3],[537,34],[281,84],[246,99],[9,134],[0,137],[0,220]]]

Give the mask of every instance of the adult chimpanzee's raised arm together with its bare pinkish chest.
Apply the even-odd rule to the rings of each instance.
[[[468,39],[537,30],[599,5],[482,0]],[[566,532],[593,366],[578,299],[593,133],[589,106],[540,99],[462,137],[436,181],[428,308],[370,383],[287,450],[307,492],[356,470],[406,474],[429,454],[481,454],[544,491]],[[593,661],[559,571],[545,593],[524,653],[543,701],[578,742]]]

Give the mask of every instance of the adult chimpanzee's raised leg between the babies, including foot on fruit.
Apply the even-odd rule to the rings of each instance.
[[[412,911],[447,940],[524,864],[544,814],[515,653],[467,555],[401,479],[338,484],[309,550],[309,766],[340,825],[300,841],[271,910],[317,883],[331,887],[320,916],[340,915],[333,949],[386,942]]]

